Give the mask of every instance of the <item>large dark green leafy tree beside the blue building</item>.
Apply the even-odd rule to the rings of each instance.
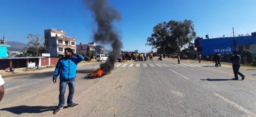
[[[191,20],[158,23],[147,38],[146,45],[161,48],[165,53],[179,52],[182,47],[195,38],[196,32]]]

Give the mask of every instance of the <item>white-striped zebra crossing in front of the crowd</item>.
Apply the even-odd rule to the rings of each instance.
[[[161,63],[131,63],[131,64],[115,64],[114,67],[213,67],[214,64],[196,64],[196,63],[181,63],[181,64],[161,64]],[[231,66],[221,66],[231,68]],[[77,69],[98,69],[100,65],[95,66],[79,66]]]

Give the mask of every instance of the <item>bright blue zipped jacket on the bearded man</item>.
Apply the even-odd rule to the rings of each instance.
[[[62,57],[59,59],[54,75],[53,80],[57,79],[57,76],[60,74],[60,79],[73,79],[76,77],[76,67],[77,64],[84,60],[84,57],[75,53],[75,56],[71,56],[69,59]]]

